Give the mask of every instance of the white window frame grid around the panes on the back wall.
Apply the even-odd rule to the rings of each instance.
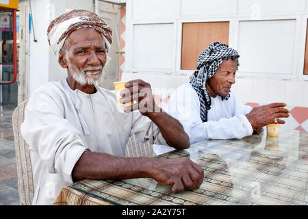
[[[176,16],[175,17],[159,17],[159,18],[132,18],[132,0],[127,0],[127,29],[126,29],[126,51],[125,56],[125,72],[127,73],[141,73],[141,74],[158,74],[158,75],[192,75],[194,70],[181,69],[181,50],[182,50],[182,27],[183,23],[203,23],[203,22],[229,22],[229,46],[238,50],[238,36],[239,25],[241,21],[279,21],[279,20],[295,20],[296,27],[294,33],[294,52],[292,60],[292,72],[285,73],[243,73],[237,72],[236,77],[243,77],[248,79],[276,79],[276,80],[290,80],[290,79],[304,79],[308,80],[308,75],[303,74],[305,62],[305,42],[307,33],[308,14],[306,6],[308,1],[302,0],[300,3],[300,12],[292,12],[287,14],[261,14],[257,19],[251,18],[249,14],[238,14],[238,1],[235,1],[231,13],[221,16],[218,14],[211,15],[207,18],[201,16],[186,17],[181,16],[181,1],[177,1]],[[133,25],[139,24],[173,24],[173,34],[175,44],[172,47],[172,68],[133,68]]]

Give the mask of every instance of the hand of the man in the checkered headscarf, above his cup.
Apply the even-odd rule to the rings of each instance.
[[[246,114],[253,131],[259,132],[262,127],[274,123],[275,118],[277,118],[277,123],[285,124],[285,121],[279,119],[289,117],[289,110],[285,109],[285,106],[285,103],[270,103],[253,108],[251,112]]]

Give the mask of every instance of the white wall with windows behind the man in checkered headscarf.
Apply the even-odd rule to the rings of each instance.
[[[188,82],[193,70],[181,70],[182,24],[229,21],[229,46],[241,55],[233,92],[243,102],[308,107],[307,18],[306,0],[127,0],[122,80],[142,78],[153,88]]]

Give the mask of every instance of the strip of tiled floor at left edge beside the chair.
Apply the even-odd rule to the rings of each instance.
[[[0,105],[0,205],[20,205],[12,128],[15,107]]]

